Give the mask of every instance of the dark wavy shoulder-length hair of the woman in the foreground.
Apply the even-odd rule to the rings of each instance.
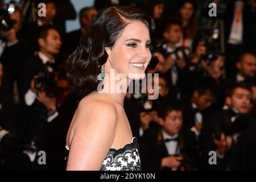
[[[134,21],[145,23],[150,31],[152,58],[146,72],[158,64],[158,59],[152,53],[155,46],[155,23],[146,11],[131,6],[113,6],[101,10],[82,35],[79,47],[69,56],[67,62],[67,77],[80,96],[97,90],[100,83],[97,76],[108,59],[105,47],[113,48],[124,28]]]

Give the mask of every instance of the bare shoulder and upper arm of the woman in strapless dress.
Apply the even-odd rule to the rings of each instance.
[[[85,97],[75,115],[67,170],[98,170],[115,138],[116,108],[102,98]]]

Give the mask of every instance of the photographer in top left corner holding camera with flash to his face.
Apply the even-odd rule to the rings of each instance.
[[[5,69],[3,75],[2,88],[14,94],[14,82],[17,82],[19,97],[22,69],[25,60],[32,56],[31,48],[20,37],[20,30],[22,28],[22,14],[19,7],[10,3],[14,11],[1,10],[1,17],[7,23],[7,26],[1,24],[1,39],[0,39],[0,62]],[[9,8],[11,9],[11,8]]]

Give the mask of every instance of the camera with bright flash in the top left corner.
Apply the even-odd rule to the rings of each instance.
[[[10,14],[13,14],[14,12],[15,5],[13,2],[2,6],[2,9],[0,10],[0,30],[9,31],[13,28],[16,21],[10,18]]]

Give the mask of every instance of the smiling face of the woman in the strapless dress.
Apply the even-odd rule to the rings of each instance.
[[[109,55],[107,72],[113,68],[116,74],[124,73],[130,79],[144,78],[145,70],[151,60],[149,47],[150,34],[146,24],[139,21],[129,23],[113,48],[106,48]]]

